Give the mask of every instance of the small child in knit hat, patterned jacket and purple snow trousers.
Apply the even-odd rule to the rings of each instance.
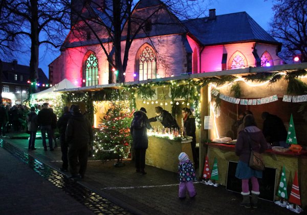
[[[189,197],[194,198],[196,196],[196,191],[193,185],[193,181],[197,181],[197,177],[193,164],[189,160],[189,156],[184,152],[180,153],[178,159],[178,177],[180,181],[178,193],[179,199],[186,198],[186,190],[189,193]]]

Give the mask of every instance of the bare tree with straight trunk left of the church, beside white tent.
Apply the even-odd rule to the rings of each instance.
[[[30,81],[38,79],[39,46],[42,44],[59,47],[64,37],[64,27],[69,25],[69,13],[57,0],[9,0],[4,5],[8,11],[6,21],[14,27],[13,35],[30,38]],[[16,28],[19,27],[19,28]],[[29,88],[35,93],[35,85]]]

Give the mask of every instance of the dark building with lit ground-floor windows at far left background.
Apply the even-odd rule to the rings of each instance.
[[[17,60],[2,62],[2,102],[9,105],[21,104],[28,99],[30,67],[18,65]],[[38,85],[39,84],[39,85]],[[38,69],[37,91],[45,90],[48,78]]]

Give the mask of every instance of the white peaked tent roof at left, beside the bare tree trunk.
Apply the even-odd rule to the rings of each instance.
[[[72,89],[72,88],[78,88],[78,86],[74,85],[71,81],[65,78],[47,90],[40,91],[38,93],[33,93],[31,95],[31,99],[50,99],[53,97],[54,91]]]

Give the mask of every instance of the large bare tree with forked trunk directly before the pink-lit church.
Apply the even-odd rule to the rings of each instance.
[[[163,25],[173,25],[183,32],[184,27],[178,17],[182,19],[190,18],[191,16],[198,17],[205,10],[202,7],[204,0],[167,0],[163,2],[159,0],[105,0],[102,1],[103,3],[101,1],[85,0],[78,1],[78,4],[73,4],[73,2],[71,7],[71,17],[74,17],[72,34],[80,37],[80,46],[82,41],[84,42],[82,37],[89,36],[89,32],[94,35],[107,57],[110,68],[116,68],[119,72],[117,82],[124,82],[123,74],[126,71],[129,49],[133,40],[140,35],[143,37],[152,36],[148,34],[147,28],[159,31]],[[70,2],[67,1],[66,4],[69,5]],[[146,10],[146,14],[134,13],[136,7],[141,4],[145,6],[151,4],[155,7]],[[83,10],[80,7],[83,7]],[[159,15],[166,10],[170,11],[170,13],[162,20]],[[122,44],[125,45],[124,50],[122,50]],[[85,42],[83,45],[86,45]],[[68,42],[62,48],[68,48],[69,46],[71,45]],[[122,53],[124,53],[123,56]],[[111,77],[109,75],[109,82]]]

